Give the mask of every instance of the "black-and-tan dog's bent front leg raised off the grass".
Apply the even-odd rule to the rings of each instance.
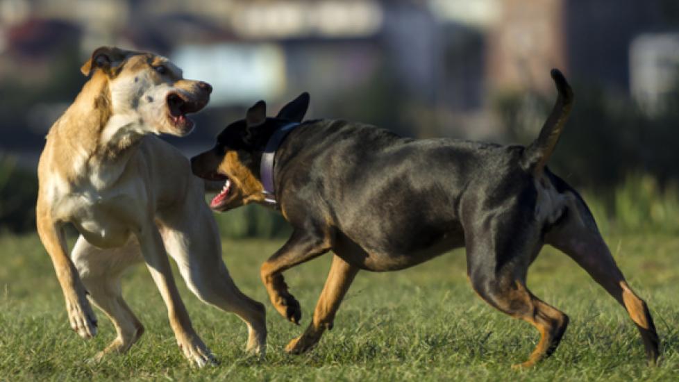
[[[326,253],[330,249],[329,241],[321,235],[294,231],[285,245],[262,264],[260,275],[267,287],[271,304],[280,315],[295,324],[299,325],[302,310],[299,301],[288,292],[282,273]]]

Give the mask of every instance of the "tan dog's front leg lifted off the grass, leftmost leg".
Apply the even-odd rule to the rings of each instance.
[[[52,260],[57,279],[64,292],[66,311],[71,327],[82,338],[97,335],[97,317],[85,296],[83,281],[66,251],[66,238],[63,227],[53,221],[47,208],[38,204],[37,233]]]

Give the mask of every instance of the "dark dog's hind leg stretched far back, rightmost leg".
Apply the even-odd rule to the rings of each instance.
[[[660,355],[660,339],[648,306],[625,281],[594,222],[581,208],[574,200],[565,221],[545,236],[545,242],[573,258],[627,310],[644,341],[646,358],[653,364]]]

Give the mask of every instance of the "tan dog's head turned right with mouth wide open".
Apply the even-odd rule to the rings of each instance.
[[[153,53],[101,47],[92,53],[81,72],[101,82],[109,94],[110,126],[114,138],[126,133],[183,136],[194,123],[187,114],[208,104],[212,87],[182,78],[182,71],[167,58]],[[122,129],[122,131],[120,130]]]

